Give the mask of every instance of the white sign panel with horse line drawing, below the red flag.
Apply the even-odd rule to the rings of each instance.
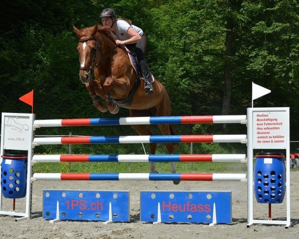
[[[28,150],[32,141],[32,117],[29,114],[5,114],[2,118],[3,148]]]

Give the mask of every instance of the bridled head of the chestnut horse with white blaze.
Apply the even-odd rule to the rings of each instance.
[[[77,46],[80,61],[79,77],[82,83],[89,83],[92,80],[92,69],[98,62],[96,58],[100,57],[100,54],[97,54],[100,51],[100,45],[95,36],[98,30],[98,23],[93,27],[86,27],[81,30],[75,26],[73,28],[79,39]]]

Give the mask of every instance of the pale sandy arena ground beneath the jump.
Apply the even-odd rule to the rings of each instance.
[[[131,218],[129,223],[61,221],[50,224],[42,218],[43,189],[73,190],[129,190]],[[11,216],[0,217],[0,238],[5,239],[297,239],[299,238],[299,171],[291,172],[291,221],[293,227],[283,225],[253,225],[247,228],[247,184],[240,182],[187,182],[173,185],[171,181],[38,181],[33,183],[32,213],[41,216],[28,221],[15,222]],[[232,224],[210,227],[208,224],[152,223],[140,221],[140,190],[232,191]],[[22,211],[24,199],[16,201],[16,211]],[[256,200],[254,199],[254,202]],[[273,220],[286,220],[286,204],[272,206]],[[12,200],[3,200],[3,207],[11,210]],[[10,209],[9,209],[10,207]],[[268,205],[255,203],[254,218],[265,220]]]

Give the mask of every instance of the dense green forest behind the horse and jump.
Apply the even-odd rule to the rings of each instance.
[[[72,25],[100,23],[100,12],[106,7],[146,32],[147,62],[168,91],[173,116],[246,115],[254,82],[272,91],[257,99],[254,107],[290,107],[291,140],[299,140],[297,0],[110,0],[109,4],[104,0],[2,0],[0,111],[30,113],[18,98],[34,89],[36,119],[127,117],[125,109],[116,116],[94,109],[78,77],[78,41]],[[246,133],[244,125],[177,125],[176,129],[178,134]],[[36,131],[69,132],[136,134],[130,126]],[[291,146],[291,151],[298,147]],[[91,152],[87,147],[78,146],[74,153]],[[141,146],[101,147],[107,153],[132,149],[143,153]],[[189,150],[189,145],[180,147],[180,153]],[[229,150],[221,144],[195,147],[196,153]],[[246,145],[231,147],[237,152]]]

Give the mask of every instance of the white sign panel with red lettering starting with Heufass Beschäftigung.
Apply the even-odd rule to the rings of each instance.
[[[285,111],[253,112],[253,148],[287,148],[287,113]]]

